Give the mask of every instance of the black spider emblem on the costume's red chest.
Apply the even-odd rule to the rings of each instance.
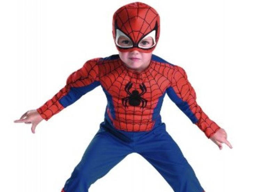
[[[125,91],[129,94],[129,96],[122,98],[123,106],[127,107],[127,101],[128,101],[131,106],[138,106],[142,102],[141,108],[145,107],[147,105],[147,100],[142,98],[141,96],[144,93],[146,93],[146,91],[147,91],[146,86],[144,85],[144,83],[139,84],[139,88],[142,90],[142,93],[139,93],[139,91],[137,91],[137,90],[133,90],[130,93],[129,90],[131,89],[132,86],[133,86],[133,83],[131,83],[131,82],[128,82],[127,85],[125,86]]]

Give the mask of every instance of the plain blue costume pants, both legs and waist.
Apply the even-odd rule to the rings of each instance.
[[[102,122],[62,192],[88,192],[91,184],[133,152],[150,162],[175,192],[204,191],[178,145],[167,133],[165,123],[152,131],[127,132]]]

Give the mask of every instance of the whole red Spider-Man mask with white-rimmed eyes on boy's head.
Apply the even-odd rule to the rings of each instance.
[[[115,11],[112,33],[119,51],[150,53],[159,39],[160,17],[154,8],[145,3],[129,3]]]

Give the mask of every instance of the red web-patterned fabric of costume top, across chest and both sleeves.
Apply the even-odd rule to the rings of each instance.
[[[155,111],[159,99],[169,87],[173,88],[182,102],[188,104],[187,107],[198,119],[195,124],[208,138],[220,129],[197,104],[195,91],[187,80],[184,69],[155,60],[151,60],[150,65],[143,72],[137,72],[128,68],[119,57],[91,59],[81,69],[73,72],[67,78],[66,86],[37,111],[48,120],[64,109],[59,100],[67,95],[71,87],[86,87],[95,81],[99,81],[109,97],[106,113],[116,129],[151,130],[156,118],[159,117]],[[136,94],[137,98],[131,99]]]

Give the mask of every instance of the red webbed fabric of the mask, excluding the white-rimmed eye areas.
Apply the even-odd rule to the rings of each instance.
[[[154,8],[145,3],[129,3],[120,7],[113,15],[112,33],[114,40],[117,28],[130,37],[134,45],[143,39],[145,35],[156,30],[155,41],[157,43],[160,35],[160,16]],[[145,50],[141,48],[123,49],[116,45],[117,49],[121,52],[136,49],[144,53],[152,52],[155,46]]]

